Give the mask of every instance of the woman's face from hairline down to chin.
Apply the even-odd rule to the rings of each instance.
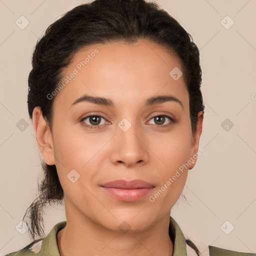
[[[202,125],[201,114],[192,135],[178,59],[147,40],[94,44],[74,55],[61,81],[47,96],[54,100],[52,133],[41,153],[56,165],[67,219],[141,230],[169,215],[196,162]],[[74,103],[85,94],[90,98]],[[151,188],[102,187],[116,179]]]

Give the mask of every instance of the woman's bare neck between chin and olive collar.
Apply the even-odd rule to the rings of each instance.
[[[169,213],[146,230],[126,233],[109,230],[88,218],[85,219],[84,216],[68,216],[66,212],[66,226],[57,233],[60,256],[173,254],[173,243],[168,234]]]

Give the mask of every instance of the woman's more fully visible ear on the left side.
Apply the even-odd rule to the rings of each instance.
[[[33,109],[32,121],[37,146],[41,151],[43,160],[49,165],[55,164],[52,134],[39,106]]]

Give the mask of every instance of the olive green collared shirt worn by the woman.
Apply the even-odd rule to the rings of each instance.
[[[8,253],[5,256],[60,256],[56,236],[57,232],[65,227],[65,225],[66,220],[55,224],[50,232],[40,241],[34,243],[31,242],[24,248]],[[188,245],[186,244],[185,237],[177,222],[171,216],[169,224],[169,236],[173,242],[173,256],[196,255],[195,251],[193,251],[193,254],[187,254]],[[211,245],[208,245],[208,249],[209,256],[256,256],[256,253],[238,252]]]

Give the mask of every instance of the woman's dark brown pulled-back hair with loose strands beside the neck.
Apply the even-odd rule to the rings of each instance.
[[[189,93],[189,116],[194,134],[197,114],[199,111],[204,112],[199,50],[192,36],[176,19],[157,3],[144,0],[94,0],[67,11],[46,28],[32,54],[27,95],[29,118],[32,119],[34,107],[39,106],[52,130],[54,99],[49,100],[46,95],[56,89],[63,70],[79,49],[95,43],[132,43],[138,39],[163,46],[179,59]],[[35,235],[41,237],[44,234],[42,215],[46,204],[61,203],[64,195],[56,166],[44,161],[41,161],[41,165],[43,179],[38,185],[39,195],[23,216],[32,239]],[[29,221],[25,220],[27,217]],[[186,240],[186,243],[199,255],[190,240]]]

